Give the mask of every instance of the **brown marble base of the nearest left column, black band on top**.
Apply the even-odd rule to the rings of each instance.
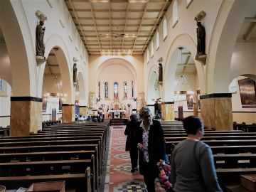
[[[11,97],[11,136],[28,136],[42,129],[42,99],[38,97]]]

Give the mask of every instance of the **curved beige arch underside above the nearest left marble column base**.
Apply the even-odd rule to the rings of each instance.
[[[0,2],[0,26],[4,34],[11,63],[11,82],[9,80],[9,83],[12,87],[12,96],[32,95],[33,83],[31,82],[33,80],[31,79],[32,74],[30,75],[29,63],[35,64],[33,62],[35,57],[28,57],[25,38],[23,38],[23,33],[11,1]],[[13,35],[14,31],[15,36]]]

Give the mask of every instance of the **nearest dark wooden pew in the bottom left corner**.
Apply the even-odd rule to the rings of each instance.
[[[93,155],[91,159],[83,160],[0,163],[0,183],[8,189],[14,189],[20,186],[28,188],[33,182],[64,180],[66,188],[75,188],[75,191],[79,192],[94,192],[96,190],[94,164]],[[63,171],[68,172],[68,169],[70,169],[70,173],[63,174],[65,173]],[[27,170],[31,170],[31,172],[28,174]],[[8,174],[4,176],[6,171]],[[16,175],[17,173],[24,175]]]

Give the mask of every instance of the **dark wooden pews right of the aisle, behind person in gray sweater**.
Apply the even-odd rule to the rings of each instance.
[[[181,124],[162,124],[162,127],[166,152],[171,158],[172,149],[186,139],[186,132]],[[223,188],[230,183],[240,183],[241,175],[256,174],[255,133],[206,129],[201,141],[208,144],[213,151],[215,169]]]

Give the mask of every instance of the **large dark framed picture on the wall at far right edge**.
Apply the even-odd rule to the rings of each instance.
[[[255,81],[250,78],[238,80],[242,108],[255,108]]]

